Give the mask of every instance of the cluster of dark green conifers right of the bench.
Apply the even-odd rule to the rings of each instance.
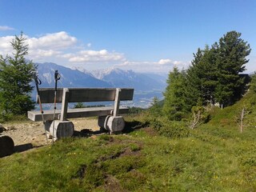
[[[163,112],[168,118],[178,120],[194,106],[230,106],[242,98],[248,75],[241,73],[249,61],[250,45],[240,37],[230,31],[212,46],[198,48],[188,70],[174,67],[164,93]]]

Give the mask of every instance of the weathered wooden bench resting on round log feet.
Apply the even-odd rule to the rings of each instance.
[[[53,88],[42,88],[39,92],[42,103],[54,103]],[[121,131],[125,125],[120,114],[128,113],[129,108],[120,106],[120,101],[131,101],[133,96],[134,89],[129,88],[59,88],[56,102],[62,103],[62,107],[55,111],[55,118],[54,110],[44,110],[46,130],[50,134],[55,132],[54,138],[71,136],[74,124],[68,119],[98,116],[98,126],[110,133]],[[114,102],[114,106],[69,109],[70,102]],[[40,111],[28,111],[28,118],[34,122],[43,120]]]

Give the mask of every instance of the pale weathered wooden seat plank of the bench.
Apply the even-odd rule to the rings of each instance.
[[[66,118],[84,118],[94,116],[106,116],[112,115],[114,106],[101,106],[101,107],[88,107],[88,108],[76,108],[68,109]],[[128,107],[120,106],[118,114],[127,114],[129,111]],[[61,110],[55,111],[55,119],[61,114]],[[45,121],[54,120],[54,110],[44,110],[43,117]],[[28,111],[28,118],[34,122],[42,121],[42,114],[40,111],[32,110]]]

